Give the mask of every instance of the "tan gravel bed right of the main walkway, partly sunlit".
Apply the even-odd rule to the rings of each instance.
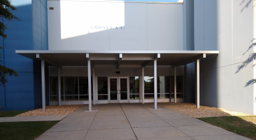
[[[202,105],[200,105],[199,109],[196,108],[196,105],[166,105],[165,107],[192,116],[194,118],[250,115],[241,112],[228,111],[223,108]]]

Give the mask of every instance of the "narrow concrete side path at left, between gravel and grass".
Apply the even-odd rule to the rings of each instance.
[[[30,121],[60,121],[67,115],[28,116],[28,117],[0,117],[0,122],[30,122]]]

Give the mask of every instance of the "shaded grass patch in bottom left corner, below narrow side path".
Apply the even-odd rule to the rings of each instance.
[[[0,140],[34,140],[58,122],[1,122]]]

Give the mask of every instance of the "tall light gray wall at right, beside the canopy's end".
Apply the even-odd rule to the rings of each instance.
[[[200,60],[200,105],[255,114],[253,0],[194,0],[194,50]]]

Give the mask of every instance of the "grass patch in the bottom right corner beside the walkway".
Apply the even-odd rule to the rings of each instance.
[[[225,116],[197,119],[256,140],[256,116]]]

